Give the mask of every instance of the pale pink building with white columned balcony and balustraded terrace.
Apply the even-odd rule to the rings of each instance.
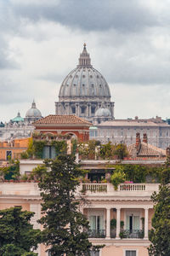
[[[108,161],[83,160],[82,168],[103,170]],[[115,164],[116,161],[111,161]],[[129,163],[125,160],[123,163]],[[162,165],[163,160],[138,160],[133,164]],[[27,170],[41,165],[42,160],[21,160],[20,169]],[[77,190],[83,191],[86,204],[81,211],[90,223],[89,240],[94,245],[105,244],[97,256],[147,256],[150,245],[148,233],[151,229],[153,202],[150,195],[158,191],[158,183],[122,183],[115,190],[111,183],[81,183]],[[0,209],[22,206],[24,210],[35,212],[31,223],[41,228],[37,219],[41,217],[41,196],[37,183],[0,183]],[[112,219],[116,226],[111,225]],[[42,245],[37,249],[38,256],[48,256]],[[94,256],[94,254],[92,253]],[[96,256],[96,255],[95,255]]]

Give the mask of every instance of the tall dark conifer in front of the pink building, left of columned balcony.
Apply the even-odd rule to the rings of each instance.
[[[71,155],[46,160],[46,166],[50,167],[50,172],[42,168],[41,175],[38,170],[43,201],[43,217],[39,220],[43,225],[42,241],[53,256],[90,255],[88,219],[78,211],[79,201],[75,197],[78,177],[84,172]]]

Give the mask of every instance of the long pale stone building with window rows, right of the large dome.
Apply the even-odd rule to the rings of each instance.
[[[101,143],[125,143],[127,146],[136,142],[136,134],[147,136],[147,143],[166,149],[170,144],[170,125],[160,117],[152,119],[114,119],[102,122],[90,128],[90,139]]]

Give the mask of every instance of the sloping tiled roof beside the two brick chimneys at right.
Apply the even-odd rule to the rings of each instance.
[[[131,144],[127,147],[127,151],[129,154],[133,155],[133,153],[136,150],[136,144]],[[143,156],[166,156],[166,150],[162,149],[162,148],[157,148],[153,145],[150,145],[148,143],[141,143],[141,148],[139,149],[139,157],[143,157]]]

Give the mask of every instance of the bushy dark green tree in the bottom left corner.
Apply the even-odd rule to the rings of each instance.
[[[31,252],[41,242],[41,231],[30,224],[34,212],[11,207],[0,211],[0,255],[37,255]]]

